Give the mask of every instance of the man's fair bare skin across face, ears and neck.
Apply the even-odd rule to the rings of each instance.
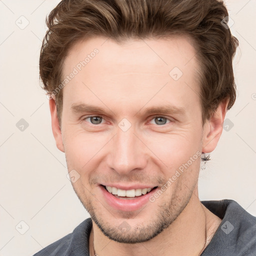
[[[63,88],[61,129],[54,98],[49,100],[52,131],[65,152],[68,171],[79,178],[73,188],[92,217],[92,240],[98,255],[199,255],[221,222],[199,201],[200,157],[168,188],[135,211],[112,208],[100,183],[151,184],[160,187],[189,158],[217,145],[228,100],[221,102],[202,126],[195,71],[196,51],[185,36],[132,39],[117,44],[93,37],[73,45],[63,62],[63,76],[84,56],[99,52]],[[153,50],[152,50],[153,49]],[[183,75],[174,80],[173,67]],[[92,104],[105,110],[78,112],[72,104]],[[147,107],[171,103],[185,112],[145,114]],[[93,124],[90,115],[102,117]],[[163,116],[161,123],[157,116]],[[126,118],[127,131],[118,127]],[[157,188],[157,189],[158,189]],[[121,232],[126,222],[130,229]],[[118,242],[119,241],[119,242]]]

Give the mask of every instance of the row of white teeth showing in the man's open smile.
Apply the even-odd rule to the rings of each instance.
[[[154,187],[124,190],[117,187],[111,187],[111,186],[105,186],[105,185],[101,185],[101,186],[103,186],[105,190],[111,193],[113,196],[120,199],[134,199],[139,196],[143,196],[158,187],[158,186],[154,186]]]

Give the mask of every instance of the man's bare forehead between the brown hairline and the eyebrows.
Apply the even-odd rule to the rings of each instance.
[[[63,88],[64,102],[104,106],[104,100],[108,106],[118,103],[125,109],[135,101],[141,105],[169,101],[187,107],[199,100],[195,55],[185,36],[122,43],[104,37],[79,41],[63,63],[63,79],[75,72]]]

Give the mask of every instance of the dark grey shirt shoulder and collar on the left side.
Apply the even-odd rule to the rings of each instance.
[[[33,256],[74,256],[88,255],[88,237],[91,230],[91,218],[82,221],[72,233],[44,247]]]

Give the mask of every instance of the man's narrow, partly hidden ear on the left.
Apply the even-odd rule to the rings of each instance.
[[[59,122],[57,117],[57,108],[55,104],[55,100],[53,98],[49,99],[49,106],[50,106],[50,115],[51,115],[51,128],[52,133],[56,141],[57,148],[64,152],[64,146],[62,142],[62,135],[61,130],[59,128]]]

